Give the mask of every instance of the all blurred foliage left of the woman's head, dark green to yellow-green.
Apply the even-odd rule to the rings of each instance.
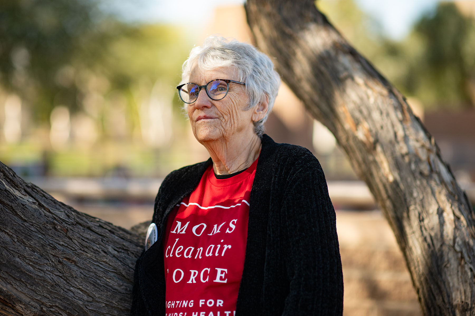
[[[127,95],[137,82],[179,80],[180,29],[123,23],[98,1],[0,1],[0,86],[22,98],[34,123],[47,123],[57,105],[81,110],[91,90]]]

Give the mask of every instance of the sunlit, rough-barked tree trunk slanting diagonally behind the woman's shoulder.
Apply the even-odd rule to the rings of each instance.
[[[475,315],[474,212],[404,96],[313,0],[248,0],[246,12],[257,45],[378,201],[423,313]]]

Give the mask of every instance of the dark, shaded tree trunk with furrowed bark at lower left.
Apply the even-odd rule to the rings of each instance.
[[[129,315],[143,239],[0,163],[0,315]]]

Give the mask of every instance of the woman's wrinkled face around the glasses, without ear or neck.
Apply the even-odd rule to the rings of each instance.
[[[195,67],[190,73],[189,82],[198,85],[207,84],[214,79],[238,80],[233,68],[217,68],[211,71],[200,71]],[[247,106],[246,86],[230,82],[228,94],[224,99],[212,100],[201,89],[198,99],[188,104],[188,117],[191,129],[200,142],[216,141],[230,138],[233,135],[254,133],[253,110],[245,111]]]

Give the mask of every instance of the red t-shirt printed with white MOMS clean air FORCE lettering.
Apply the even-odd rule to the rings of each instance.
[[[169,215],[163,239],[167,316],[235,314],[256,166],[257,160],[228,179],[217,179],[210,166]]]

